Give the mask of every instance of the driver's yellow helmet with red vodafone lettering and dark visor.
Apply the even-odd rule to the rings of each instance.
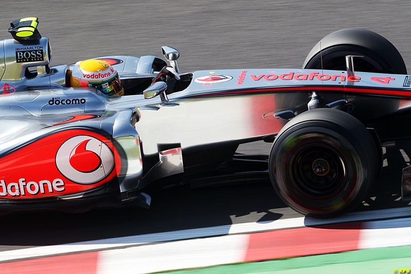
[[[95,87],[108,96],[123,96],[119,74],[106,61],[90,59],[74,64],[70,76],[72,87]]]

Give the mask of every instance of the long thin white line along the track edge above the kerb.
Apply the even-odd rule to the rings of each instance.
[[[11,260],[22,260],[28,258],[47,257],[57,254],[78,253],[84,251],[94,251],[130,245],[142,245],[158,242],[169,242],[177,240],[205,238],[227,234],[249,233],[257,231],[268,231],[276,229],[288,229],[313,225],[325,225],[345,222],[371,221],[381,218],[398,218],[411,216],[411,208],[394,208],[374,211],[362,211],[346,214],[341,217],[331,219],[313,219],[306,217],[280,219],[261,223],[233,224],[207,228],[186,229],[170,232],[143,234],[126,236],[112,239],[102,239],[96,241],[79,242],[64,245],[41,246],[0,252],[0,262]]]

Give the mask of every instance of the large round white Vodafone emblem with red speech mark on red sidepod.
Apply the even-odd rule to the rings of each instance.
[[[91,185],[107,177],[114,168],[114,155],[99,139],[87,135],[65,141],[55,155],[59,171],[78,184]]]

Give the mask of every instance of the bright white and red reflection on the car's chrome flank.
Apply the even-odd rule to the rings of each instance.
[[[179,105],[140,108],[136,129],[145,154],[156,153],[159,143],[181,143],[184,150],[231,140],[247,142],[277,133],[287,122],[264,118],[275,110],[274,100],[272,94],[171,100]]]

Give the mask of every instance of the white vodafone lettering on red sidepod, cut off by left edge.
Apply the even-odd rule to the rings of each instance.
[[[17,182],[6,183],[5,180],[0,180],[0,196],[26,196],[53,193],[53,191],[64,191],[64,181],[62,179],[54,179],[52,182],[49,180],[41,180],[39,182],[29,181],[25,178],[18,179]]]

